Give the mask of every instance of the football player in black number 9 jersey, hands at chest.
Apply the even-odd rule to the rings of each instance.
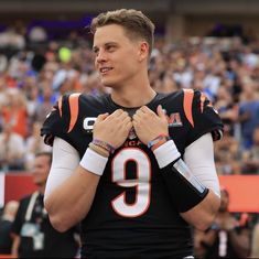
[[[151,88],[154,25],[142,12],[101,13],[91,31],[111,94],[65,95],[44,122],[52,224],[64,231],[82,222],[83,258],[191,256],[190,226],[207,228],[220,203],[213,138],[222,121],[199,91]]]

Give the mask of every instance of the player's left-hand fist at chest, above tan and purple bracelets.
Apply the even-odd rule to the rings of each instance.
[[[99,115],[94,125],[94,139],[102,140],[116,149],[128,138],[132,128],[131,118],[122,109],[114,111],[111,115]]]

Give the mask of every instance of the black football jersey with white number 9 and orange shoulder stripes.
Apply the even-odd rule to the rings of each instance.
[[[182,155],[206,132],[212,132],[214,140],[220,138],[222,120],[201,91],[158,94],[147,106],[157,111],[159,105]],[[55,136],[64,139],[82,158],[93,140],[96,117],[118,108],[131,116],[138,109],[118,106],[110,95],[65,95],[45,120],[42,136],[48,144]],[[82,231],[82,256],[86,258],[159,259],[193,253],[191,228],[169,197],[152,151],[133,130],[109,157]]]

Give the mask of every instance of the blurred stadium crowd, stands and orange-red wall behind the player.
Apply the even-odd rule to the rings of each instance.
[[[223,118],[217,172],[228,211],[247,230],[249,257],[259,257],[257,0],[0,0],[0,207],[35,190],[35,153],[50,150],[40,128],[57,98],[107,91],[93,67],[87,26],[100,11],[120,8],[155,23],[152,87],[201,89]],[[205,257],[206,241],[195,235],[196,255]]]

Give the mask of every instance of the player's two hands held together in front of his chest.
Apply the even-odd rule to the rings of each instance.
[[[127,140],[132,127],[139,140],[144,144],[159,134],[169,133],[168,119],[161,105],[158,106],[157,114],[147,106],[142,106],[132,118],[122,109],[111,115],[99,115],[94,125],[94,139],[108,142],[118,149]]]

